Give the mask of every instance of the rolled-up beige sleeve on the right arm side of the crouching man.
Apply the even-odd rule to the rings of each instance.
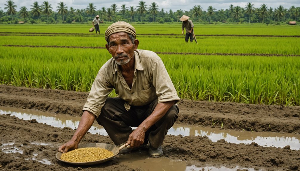
[[[156,61],[156,65],[152,68],[153,85],[158,96],[158,103],[180,100],[172,80],[161,59]]]

